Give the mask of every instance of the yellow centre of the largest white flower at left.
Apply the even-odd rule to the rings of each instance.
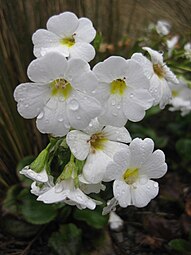
[[[67,99],[72,91],[71,84],[65,79],[56,79],[50,83],[52,96],[61,95]]]

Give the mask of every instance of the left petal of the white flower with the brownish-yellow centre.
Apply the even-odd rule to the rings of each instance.
[[[89,139],[89,135],[78,130],[72,130],[67,134],[66,142],[77,159],[84,160],[87,158],[90,151]]]

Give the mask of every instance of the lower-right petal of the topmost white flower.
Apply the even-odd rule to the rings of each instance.
[[[94,47],[86,42],[76,42],[69,48],[71,58],[81,58],[87,62],[95,57]]]

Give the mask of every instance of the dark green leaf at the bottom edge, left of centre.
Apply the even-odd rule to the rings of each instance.
[[[61,225],[49,238],[49,246],[57,255],[79,255],[81,229],[74,224]]]

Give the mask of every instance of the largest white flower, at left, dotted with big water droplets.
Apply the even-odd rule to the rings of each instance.
[[[28,76],[33,82],[20,84],[14,97],[21,116],[37,116],[40,132],[64,136],[70,127],[85,128],[100,114],[92,94],[97,80],[84,60],[49,53],[31,62]]]

